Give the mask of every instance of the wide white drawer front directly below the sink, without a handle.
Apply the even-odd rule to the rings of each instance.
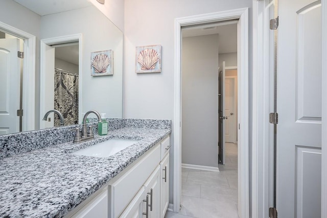
[[[119,217],[160,162],[159,144],[109,182],[109,215]]]

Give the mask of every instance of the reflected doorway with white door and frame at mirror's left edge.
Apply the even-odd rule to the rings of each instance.
[[[6,81],[0,94],[0,134],[34,130],[36,37],[1,21],[0,31],[0,74]]]

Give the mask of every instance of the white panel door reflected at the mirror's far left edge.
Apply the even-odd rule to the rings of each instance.
[[[0,39],[0,135],[19,132],[20,59],[18,39]]]

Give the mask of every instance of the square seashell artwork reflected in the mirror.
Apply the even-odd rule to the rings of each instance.
[[[91,76],[113,75],[112,50],[91,52]]]

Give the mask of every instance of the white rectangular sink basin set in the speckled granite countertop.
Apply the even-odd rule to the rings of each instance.
[[[90,146],[78,151],[73,154],[92,156],[92,157],[109,157],[128,146],[135,144],[136,140],[125,140],[125,139],[110,139],[105,142],[98,143],[94,146]]]

